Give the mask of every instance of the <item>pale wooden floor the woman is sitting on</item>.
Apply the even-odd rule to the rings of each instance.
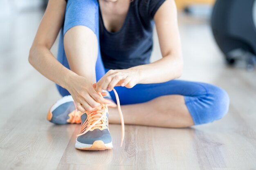
[[[0,20],[0,170],[256,170],[256,71],[224,64],[206,19],[179,16],[180,79],[224,88],[229,113],[185,129],[126,125],[122,148],[121,126],[111,124],[114,148],[92,152],[74,148],[79,125],[46,120],[60,96],[27,62],[42,15],[31,11]],[[160,56],[155,40],[153,60]]]

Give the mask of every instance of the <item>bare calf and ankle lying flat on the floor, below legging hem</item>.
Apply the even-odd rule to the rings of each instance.
[[[170,104],[166,104],[168,103]],[[125,124],[182,128],[193,126],[193,119],[182,95],[157,97],[140,104],[121,106]],[[109,108],[109,122],[120,124],[116,108]]]

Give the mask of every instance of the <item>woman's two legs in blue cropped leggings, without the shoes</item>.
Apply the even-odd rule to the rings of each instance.
[[[76,3],[81,4],[73,3],[68,8],[72,8],[72,5],[85,5],[84,9],[88,5],[97,6],[96,2],[93,4],[84,4],[89,1]],[[65,53],[60,53],[62,55],[58,56],[58,60],[62,59],[59,61],[63,65],[94,83],[105,72],[99,53],[99,23],[86,26],[89,22],[85,22],[86,20],[98,22],[95,20],[98,18],[98,11],[97,8],[88,7],[88,9],[96,10],[85,10],[80,13],[81,16],[78,13],[70,15],[70,18],[69,13],[66,13],[63,33]],[[72,9],[67,11],[72,11]],[[92,13],[87,17],[88,11]],[[72,17],[86,18],[78,20]],[[60,41],[60,43],[63,42]],[[68,64],[65,63],[66,59]],[[58,87],[58,90],[63,96],[69,95],[65,89]],[[117,87],[116,90],[119,93],[121,104],[123,103],[122,111],[127,124],[170,128],[188,127],[222,118],[229,106],[229,97],[225,91],[217,86],[199,82],[171,80],[162,84],[154,84],[152,87],[136,85],[132,89]],[[151,93],[151,96],[148,95]],[[115,100],[113,95],[112,98]],[[109,112],[110,123],[120,123],[117,109],[109,108]]]

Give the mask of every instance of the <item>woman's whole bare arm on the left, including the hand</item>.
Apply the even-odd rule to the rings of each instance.
[[[80,76],[63,66],[50,49],[63,25],[65,0],[49,0],[29,53],[29,63],[42,75],[69,91],[81,112],[90,111],[109,101],[95,91],[88,77]],[[103,93],[104,95],[104,93]]]

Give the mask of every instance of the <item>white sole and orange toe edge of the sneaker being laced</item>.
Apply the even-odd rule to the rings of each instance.
[[[81,142],[76,141],[75,147],[80,150],[108,150],[112,149],[113,145],[112,142],[104,144],[103,141],[94,141],[93,144],[82,144]]]

